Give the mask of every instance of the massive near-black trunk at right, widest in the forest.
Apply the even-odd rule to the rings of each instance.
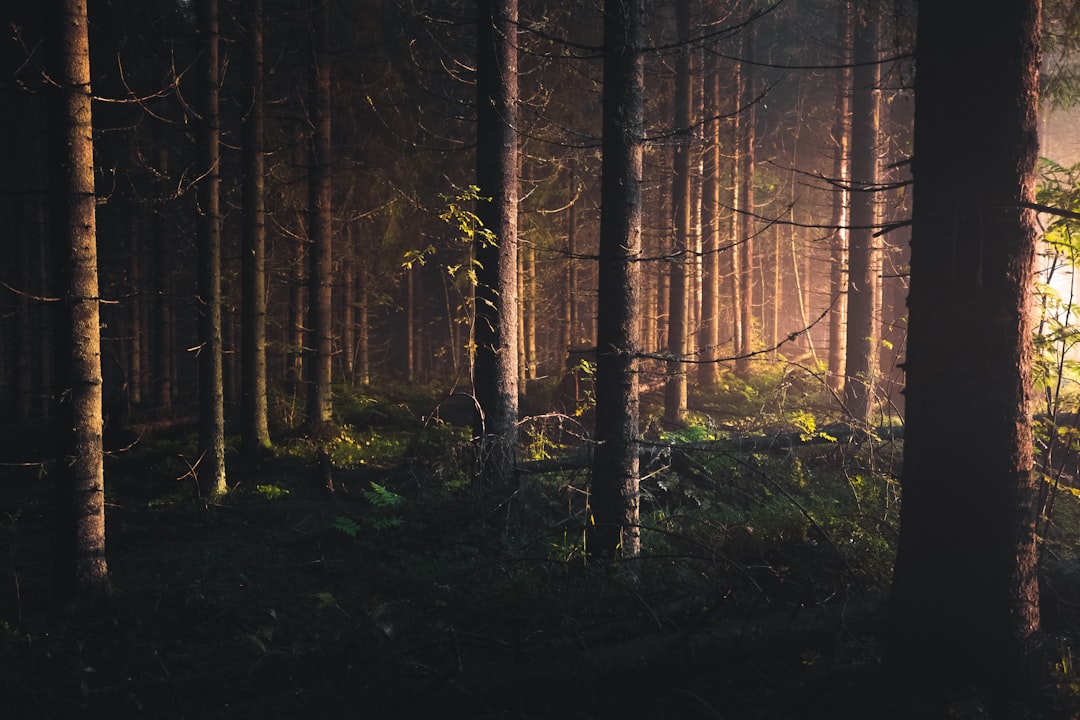
[[[1025,204],[1040,4],[919,4],[904,494],[887,643],[913,688],[1023,690],[1039,626],[1037,233]],[[957,35],[961,24],[971,31]]]

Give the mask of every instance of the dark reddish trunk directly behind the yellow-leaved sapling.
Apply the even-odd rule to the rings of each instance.
[[[505,483],[517,451],[517,0],[478,3],[476,51],[475,431],[478,472]]]

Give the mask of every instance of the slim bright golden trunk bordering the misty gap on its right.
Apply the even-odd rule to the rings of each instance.
[[[837,76],[836,119],[833,122],[833,235],[829,241],[828,313],[828,386],[843,393],[848,352],[848,235],[851,191],[851,87],[854,84],[851,65],[854,43],[854,12],[851,2],[840,4],[837,38],[839,63],[845,66]]]

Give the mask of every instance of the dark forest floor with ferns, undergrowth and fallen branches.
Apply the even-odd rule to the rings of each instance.
[[[396,444],[342,432],[333,490],[312,458],[276,452],[235,461],[206,504],[177,479],[190,436],[109,458],[114,589],[93,623],[49,612],[48,474],[2,471],[0,715],[988,717],[976,696],[902,697],[881,670],[894,498],[888,473],[855,473],[867,447],[658,457],[645,552],[606,566],[582,559],[580,468],[499,495],[451,471],[453,438],[364,463],[345,456]],[[1075,637],[1067,606],[1054,627]],[[1076,717],[1062,657],[1014,717]]]

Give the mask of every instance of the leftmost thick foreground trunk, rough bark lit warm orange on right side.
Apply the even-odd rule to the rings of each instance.
[[[50,5],[50,195],[56,313],[57,604],[92,612],[106,599],[105,468],[97,221],[85,0]]]

